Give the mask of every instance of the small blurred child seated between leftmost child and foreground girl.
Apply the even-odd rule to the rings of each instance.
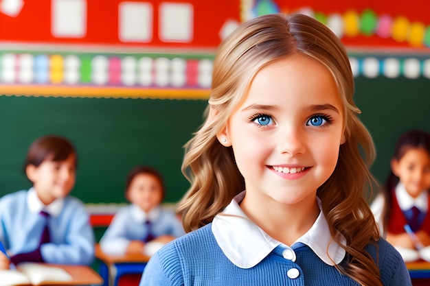
[[[155,169],[146,166],[131,169],[125,195],[131,204],[115,215],[100,239],[104,252],[152,255],[164,244],[185,234],[174,211],[161,206],[164,184]]]

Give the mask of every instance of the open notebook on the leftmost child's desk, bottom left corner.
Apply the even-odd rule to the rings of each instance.
[[[0,270],[0,286],[52,285],[72,280],[62,268],[40,263],[21,263],[16,270]]]

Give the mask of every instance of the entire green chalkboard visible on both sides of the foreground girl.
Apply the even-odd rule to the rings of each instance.
[[[430,80],[357,77],[355,102],[376,144],[372,173],[389,171],[394,142],[406,130],[430,132]],[[38,136],[60,134],[79,156],[72,194],[84,202],[125,202],[124,182],[137,164],[166,181],[166,202],[188,189],[181,174],[183,144],[203,123],[206,100],[0,96],[0,195],[30,187],[22,163]]]

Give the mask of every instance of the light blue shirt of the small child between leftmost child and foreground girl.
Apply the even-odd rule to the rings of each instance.
[[[152,236],[172,235],[180,237],[185,234],[181,221],[174,211],[157,206],[149,213],[135,204],[124,206],[115,214],[109,227],[106,229],[100,247],[103,252],[112,255],[126,253],[128,243],[133,240],[144,240],[148,236],[146,220],[151,222],[150,232]]]

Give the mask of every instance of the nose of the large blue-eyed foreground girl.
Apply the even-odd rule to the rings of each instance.
[[[282,154],[303,154],[306,151],[306,135],[300,128],[286,128],[280,132],[278,148]]]

